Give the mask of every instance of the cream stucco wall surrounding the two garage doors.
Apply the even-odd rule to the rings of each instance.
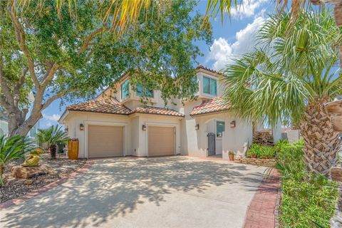
[[[65,125],[68,127],[68,135],[78,138],[78,157],[88,156],[88,126],[89,125],[118,125],[124,127],[124,155],[147,156],[148,126],[166,126],[176,129],[175,153],[180,154],[180,118],[167,117],[163,115],[135,114],[113,115],[86,112],[71,112],[68,114]],[[84,130],[80,130],[80,125]],[[142,125],[147,130],[142,130]]]

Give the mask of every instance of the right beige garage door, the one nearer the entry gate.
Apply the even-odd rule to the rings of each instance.
[[[175,128],[148,127],[148,156],[175,155]]]

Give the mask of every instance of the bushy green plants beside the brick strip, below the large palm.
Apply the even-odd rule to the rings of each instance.
[[[314,222],[329,227],[338,198],[337,184],[323,175],[306,172],[302,147],[282,142],[277,152],[276,168],[281,172],[282,199],[280,222],[282,227],[315,227]]]

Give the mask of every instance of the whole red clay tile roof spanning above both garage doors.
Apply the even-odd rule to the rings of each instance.
[[[98,100],[90,100],[85,103],[79,103],[77,105],[69,105],[66,110],[73,111],[83,111],[83,112],[93,112],[93,113],[108,113],[108,114],[120,114],[120,115],[130,115],[133,113],[145,113],[145,114],[155,114],[155,115],[172,115],[183,117],[182,113],[178,113],[170,108],[157,108],[150,106],[142,106],[130,110],[125,105],[118,102],[113,98],[103,98]]]

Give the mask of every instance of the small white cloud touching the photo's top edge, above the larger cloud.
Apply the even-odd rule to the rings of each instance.
[[[269,0],[244,0],[237,8],[232,8],[231,15],[239,19],[254,16],[255,11],[266,2],[269,2]]]

